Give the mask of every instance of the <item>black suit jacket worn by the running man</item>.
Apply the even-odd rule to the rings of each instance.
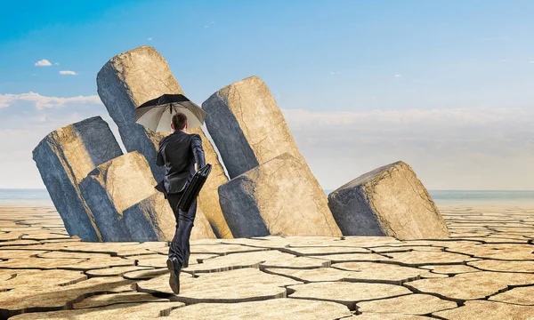
[[[204,166],[204,149],[202,140],[196,133],[173,132],[159,141],[156,164],[165,165],[165,176],[155,187],[164,194],[182,192],[195,175],[195,163],[198,169]]]

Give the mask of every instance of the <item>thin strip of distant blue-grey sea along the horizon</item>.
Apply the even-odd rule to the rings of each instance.
[[[333,190],[324,190],[328,195]],[[534,205],[534,191],[429,190],[436,204]],[[0,188],[0,206],[53,206],[46,189]]]

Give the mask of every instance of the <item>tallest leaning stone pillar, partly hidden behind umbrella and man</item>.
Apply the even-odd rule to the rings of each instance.
[[[183,93],[165,58],[154,48],[143,45],[109,60],[98,73],[96,82],[98,94],[108,108],[109,116],[117,123],[125,148],[145,156],[154,177],[160,181],[164,167],[156,165],[159,140],[170,132],[152,132],[135,124],[135,108],[165,93]],[[198,207],[206,214],[218,236],[231,238],[217,195],[217,188],[228,181],[223,165],[204,132],[200,128],[190,132],[200,134],[206,162],[212,164],[210,177],[198,196]]]

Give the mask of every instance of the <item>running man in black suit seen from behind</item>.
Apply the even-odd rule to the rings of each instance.
[[[205,164],[202,140],[196,133],[188,134],[187,116],[176,113],[173,116],[171,129],[174,131],[159,141],[158,159],[156,164],[165,165],[165,176],[156,189],[166,196],[176,219],[176,232],[169,245],[167,268],[170,271],[169,284],[174,293],[180,293],[180,272],[189,265],[190,235],[193,221],[197,213],[197,199],[189,212],[178,209],[183,192],[197,170]]]

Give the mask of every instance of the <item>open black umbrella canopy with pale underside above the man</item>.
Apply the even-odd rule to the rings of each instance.
[[[183,94],[164,94],[148,100],[135,109],[135,122],[153,132],[170,132],[171,120],[178,112],[187,116],[188,128],[204,124],[206,111]]]

